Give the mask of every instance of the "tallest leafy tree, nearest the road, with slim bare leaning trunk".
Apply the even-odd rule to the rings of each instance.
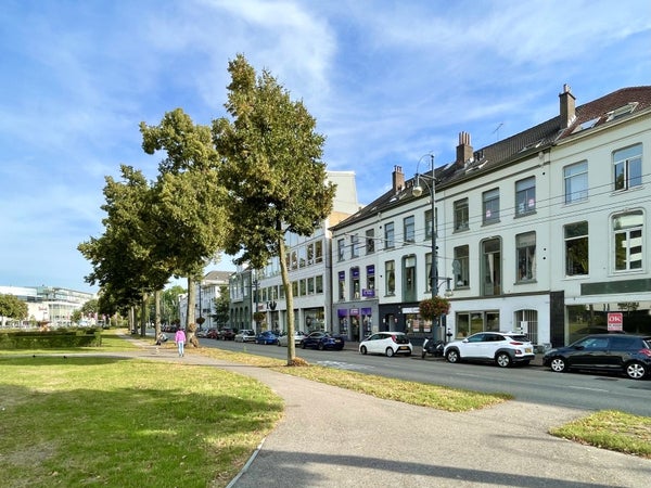
[[[332,210],[335,187],[321,162],[324,138],[302,102],[293,102],[276,79],[260,77],[243,55],[229,62],[226,117],[213,121],[221,181],[228,189],[229,220],[225,251],[237,261],[261,269],[280,261],[286,298],[288,333],[294,333],[294,305],[285,256],[285,235],[308,236]],[[289,342],[288,364],[295,363]]]

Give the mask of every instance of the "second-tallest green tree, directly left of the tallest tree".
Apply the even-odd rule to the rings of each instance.
[[[155,204],[156,254],[164,255],[174,275],[188,279],[188,342],[193,342],[196,301],[194,283],[207,262],[218,259],[229,232],[226,192],[217,169],[220,158],[210,128],[195,125],[181,108],[168,112],[157,126],[140,124],[142,149],[165,153],[158,165]]]

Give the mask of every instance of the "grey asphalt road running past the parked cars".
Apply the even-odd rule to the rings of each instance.
[[[204,347],[218,347],[279,359],[286,348],[201,339]],[[475,391],[500,391],[518,400],[583,410],[621,410],[651,416],[651,380],[634,381],[624,376],[587,373],[552,373],[541,367],[497,368],[493,364],[450,364],[444,359],[420,357],[417,347],[411,357],[362,356],[356,350],[319,351],[296,349],[296,356],[314,364],[359,371],[387,377]]]

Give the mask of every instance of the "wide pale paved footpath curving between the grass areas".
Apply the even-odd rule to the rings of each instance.
[[[141,342],[141,344],[144,344]],[[636,487],[651,460],[547,434],[589,412],[509,401],[449,413],[381,400],[264,368],[152,346],[129,354],[255,377],[285,414],[229,487]]]

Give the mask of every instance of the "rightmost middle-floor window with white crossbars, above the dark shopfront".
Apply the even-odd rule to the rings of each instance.
[[[642,227],[640,210],[613,217],[615,271],[642,268]]]

